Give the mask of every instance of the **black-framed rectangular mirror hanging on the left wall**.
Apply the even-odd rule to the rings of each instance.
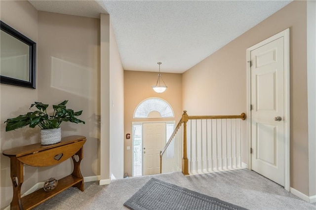
[[[0,21],[0,82],[36,86],[36,43]]]

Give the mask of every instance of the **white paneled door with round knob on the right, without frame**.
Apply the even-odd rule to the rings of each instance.
[[[259,43],[250,50],[251,169],[282,186],[286,140],[285,55],[283,36]]]

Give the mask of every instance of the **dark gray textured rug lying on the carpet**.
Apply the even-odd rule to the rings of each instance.
[[[246,210],[157,178],[151,178],[124,206],[131,210]]]

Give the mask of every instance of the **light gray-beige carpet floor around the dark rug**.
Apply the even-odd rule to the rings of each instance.
[[[70,188],[35,210],[127,210],[123,206],[151,177],[249,210],[316,210],[275,182],[246,169],[205,175],[182,173],[113,180],[110,185],[85,183],[84,192]]]

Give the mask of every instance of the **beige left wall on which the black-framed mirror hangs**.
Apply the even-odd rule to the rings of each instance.
[[[18,32],[38,42],[38,13],[28,1],[0,1],[0,19]],[[37,69],[37,72],[40,72]],[[25,114],[34,101],[38,100],[38,88],[30,89],[12,85],[0,85],[0,209],[10,204],[12,182],[10,179],[10,159],[2,151],[38,141],[38,129],[22,128],[5,132],[7,118]],[[38,182],[37,168],[25,167],[25,179],[21,189],[24,193]]]

